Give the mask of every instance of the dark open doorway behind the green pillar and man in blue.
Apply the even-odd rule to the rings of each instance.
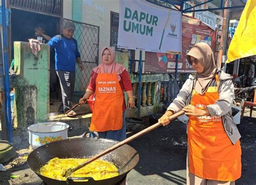
[[[35,28],[40,25],[45,29],[45,34],[53,37],[59,34],[60,18],[42,13],[32,11],[19,10],[11,8],[11,60],[14,59],[14,42],[29,42],[28,39],[37,37],[35,36]],[[43,39],[45,43],[48,40]],[[50,52],[50,98],[56,99],[57,97],[57,75],[55,72],[55,53]]]

